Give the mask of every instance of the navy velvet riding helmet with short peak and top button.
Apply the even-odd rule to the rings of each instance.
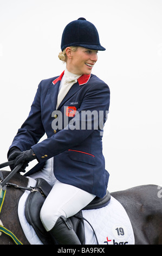
[[[63,31],[61,50],[68,46],[82,46],[92,50],[105,51],[100,45],[99,34],[96,27],[85,18],[70,22]]]

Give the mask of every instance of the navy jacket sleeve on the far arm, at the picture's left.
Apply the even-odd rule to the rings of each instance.
[[[44,128],[41,119],[41,83],[38,85],[37,92],[31,105],[28,118],[24,121],[10,148],[18,147],[25,151],[36,144],[44,135]],[[10,149],[9,148],[9,149]]]

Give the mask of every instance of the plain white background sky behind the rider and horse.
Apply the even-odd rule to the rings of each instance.
[[[38,83],[64,70],[57,58],[64,27],[85,17],[106,48],[92,73],[111,89],[103,137],[108,189],[161,186],[161,13],[161,0],[0,0],[0,162]]]

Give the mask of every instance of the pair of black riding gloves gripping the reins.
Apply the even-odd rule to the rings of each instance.
[[[29,149],[23,152],[20,151],[14,151],[9,156],[9,161],[15,160],[14,161],[14,167],[16,167],[18,164],[23,163],[21,169],[19,172],[25,172],[25,168],[28,166],[28,163],[36,159],[36,155],[34,154],[33,149]]]

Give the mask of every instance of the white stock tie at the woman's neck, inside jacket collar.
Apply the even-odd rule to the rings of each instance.
[[[75,74],[69,72],[67,69],[64,70],[64,75],[60,82],[59,94],[57,96],[56,109],[59,107],[61,101],[64,99],[64,97],[69,92],[69,89],[73,86],[74,83],[77,82],[77,79],[80,76],[81,75],[75,75]]]

